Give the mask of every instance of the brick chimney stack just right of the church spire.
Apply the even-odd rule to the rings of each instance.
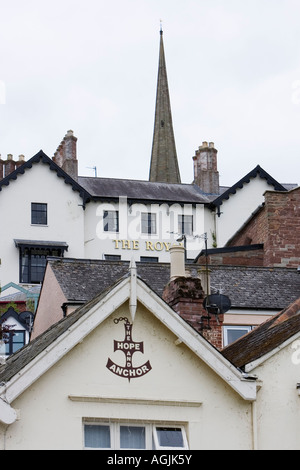
[[[213,142],[203,142],[193,157],[194,184],[208,194],[219,194],[217,153]]]

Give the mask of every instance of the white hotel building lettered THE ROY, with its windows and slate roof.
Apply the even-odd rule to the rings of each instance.
[[[169,262],[181,240],[193,261],[206,244],[223,245],[264,190],[278,187],[256,171],[222,199],[197,184],[73,178],[64,157],[59,166],[41,151],[0,181],[2,286],[40,284],[48,256]]]

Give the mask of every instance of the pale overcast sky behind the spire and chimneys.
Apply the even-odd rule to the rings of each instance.
[[[300,0],[0,0],[0,153],[149,177],[162,20],[182,182],[202,141],[222,185],[300,184]]]

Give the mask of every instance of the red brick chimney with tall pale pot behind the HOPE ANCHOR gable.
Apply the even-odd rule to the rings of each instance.
[[[206,294],[199,277],[185,275],[182,246],[170,248],[171,278],[163,292],[164,301],[217,349],[222,349],[223,315],[209,314],[203,306]]]

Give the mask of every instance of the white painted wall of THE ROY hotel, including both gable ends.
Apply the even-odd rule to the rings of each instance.
[[[12,180],[0,192],[0,282],[19,283],[19,250],[14,239],[64,241],[69,245],[66,257],[104,259],[106,254],[119,255],[122,260],[141,256],[155,257],[169,262],[169,248],[179,237],[178,215],[193,215],[193,236],[187,236],[187,258],[194,259],[204,249],[204,234],[208,248],[226,241],[248,219],[263,201],[269,186],[261,178],[254,178],[243,189],[237,190],[221,205],[221,217],[216,217],[203,204],[127,204],[90,202],[85,211],[79,194],[58,178],[46,164],[33,164],[24,175]],[[31,202],[48,204],[47,226],[31,225]],[[119,210],[119,233],[104,232],[103,211]],[[157,215],[157,233],[141,233],[141,213]]]

